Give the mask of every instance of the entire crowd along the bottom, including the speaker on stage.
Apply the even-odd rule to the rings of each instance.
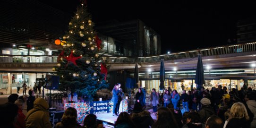
[[[119,102],[123,96],[120,84],[112,90],[113,116],[118,116],[115,128],[256,128],[256,91],[250,87],[241,90],[226,87],[212,87],[211,91],[193,89],[188,94],[183,90],[166,89],[159,94],[152,89],[151,113],[145,109],[144,89],[139,88],[136,103],[131,113],[120,112]],[[0,128],[51,128],[48,102],[35,98],[29,90],[29,97],[11,94],[8,102],[0,105]],[[25,102],[28,112],[23,114]],[[55,128],[103,128],[96,115],[85,117],[83,125],[77,123],[77,110],[68,108]]]

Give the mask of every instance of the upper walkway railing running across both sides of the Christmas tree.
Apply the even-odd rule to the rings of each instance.
[[[102,57],[106,63],[150,63],[164,60],[179,60],[187,58],[196,58],[198,54],[202,56],[214,56],[222,54],[240,53],[256,51],[256,43],[243,43],[234,45],[225,45],[220,47],[211,47],[205,49],[182,51],[171,54],[163,54],[150,57]],[[2,55],[0,63],[57,63],[58,56],[26,56],[26,55]]]

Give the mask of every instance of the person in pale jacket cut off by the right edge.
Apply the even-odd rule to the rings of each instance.
[[[255,93],[248,93],[246,96],[245,96],[245,101],[246,101],[246,104],[249,108],[249,110],[253,113],[254,115],[254,118],[251,122],[251,128],[256,128],[256,101],[254,100],[255,98]]]

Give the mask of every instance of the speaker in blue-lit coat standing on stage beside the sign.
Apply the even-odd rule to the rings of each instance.
[[[116,84],[112,90],[113,96],[111,101],[114,103],[113,105],[113,116],[118,116],[117,114],[117,106],[118,106],[118,98],[119,98],[119,84]]]

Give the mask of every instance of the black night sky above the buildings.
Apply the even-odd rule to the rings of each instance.
[[[73,14],[80,0],[39,0]],[[210,0],[205,0],[210,1]],[[141,19],[161,35],[162,53],[228,44],[236,38],[236,23],[256,14],[256,0],[87,0],[97,23]]]

